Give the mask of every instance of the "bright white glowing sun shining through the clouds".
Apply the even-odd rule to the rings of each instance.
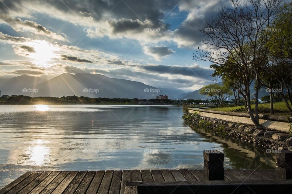
[[[40,65],[46,65],[47,62],[56,56],[54,51],[56,51],[57,48],[47,41],[35,41],[32,42],[30,46],[32,46],[35,51],[30,54],[30,57]]]

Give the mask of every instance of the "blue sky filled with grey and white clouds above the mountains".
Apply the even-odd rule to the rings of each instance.
[[[214,82],[193,60],[227,0],[0,0],[0,79],[99,73],[193,91]]]

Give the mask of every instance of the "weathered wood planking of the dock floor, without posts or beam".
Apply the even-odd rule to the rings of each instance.
[[[225,170],[225,181],[275,180],[275,170]],[[188,182],[203,181],[203,170],[99,170],[26,172],[0,190],[0,194],[124,194],[126,182],[176,182],[182,186]],[[137,187],[127,188],[136,192]]]

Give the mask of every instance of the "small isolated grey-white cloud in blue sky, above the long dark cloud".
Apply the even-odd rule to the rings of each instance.
[[[166,57],[168,55],[171,55],[175,51],[173,51],[172,49],[170,49],[167,46],[154,46],[154,47],[144,46],[143,52],[146,55],[150,55],[150,56],[154,57],[156,60],[160,60],[162,57]]]

